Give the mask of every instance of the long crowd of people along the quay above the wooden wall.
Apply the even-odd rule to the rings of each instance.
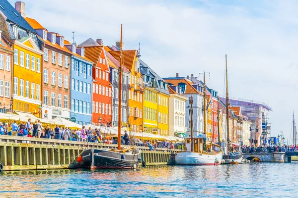
[[[55,128],[51,128],[49,125],[43,127],[40,120],[36,120],[32,123],[31,118],[28,119],[26,124],[24,122],[17,124],[16,120],[3,124],[0,122],[0,135],[117,144],[117,140],[113,141],[112,138],[102,137],[99,129],[92,130],[91,127],[85,129],[85,126],[82,126],[82,129],[71,130],[68,127],[60,127],[58,125],[56,125]],[[149,147],[150,150],[155,150],[155,148],[173,149],[177,147],[173,142],[167,140],[140,140],[140,142],[142,144],[136,144],[136,142],[135,144],[138,146]],[[131,145],[131,140],[127,131],[125,131],[124,136],[121,136],[121,144]]]

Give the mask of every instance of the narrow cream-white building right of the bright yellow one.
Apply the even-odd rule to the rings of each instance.
[[[168,87],[169,98],[169,136],[185,133],[185,102],[187,98],[182,95],[182,89],[178,86]]]

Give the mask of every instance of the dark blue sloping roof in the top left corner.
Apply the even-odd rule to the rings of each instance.
[[[0,11],[7,17],[6,20],[15,23],[16,25],[24,28],[30,32],[36,33],[36,31],[29,25],[29,23],[21,16],[16,9],[7,1],[0,1]]]

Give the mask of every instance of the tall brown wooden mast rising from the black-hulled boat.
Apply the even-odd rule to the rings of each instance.
[[[118,97],[118,150],[121,149],[121,99],[122,99],[122,24],[120,36],[120,60],[119,60],[119,97]]]

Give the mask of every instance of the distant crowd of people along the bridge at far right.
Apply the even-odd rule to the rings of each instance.
[[[298,145],[242,146],[242,152],[298,152]]]

